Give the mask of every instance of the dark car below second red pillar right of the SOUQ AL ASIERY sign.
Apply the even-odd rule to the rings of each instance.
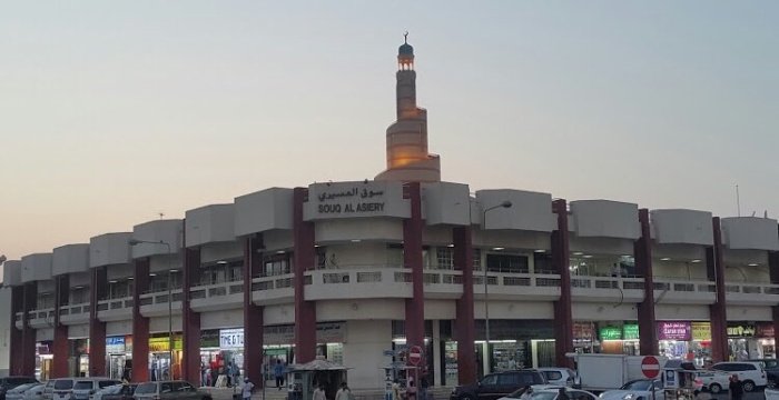
[[[454,388],[451,400],[497,400],[519,389],[545,384],[544,374],[534,369],[490,373],[477,383]]]

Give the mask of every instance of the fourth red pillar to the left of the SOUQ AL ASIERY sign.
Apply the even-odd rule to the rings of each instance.
[[[149,259],[135,260],[132,289],[132,381],[149,380],[149,319],[140,313],[140,294],[149,289]]]

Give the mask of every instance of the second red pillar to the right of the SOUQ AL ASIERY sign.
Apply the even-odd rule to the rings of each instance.
[[[469,222],[470,223],[470,222]],[[471,226],[453,229],[454,269],[463,272],[463,296],[456,302],[457,379],[460,384],[476,381],[476,328],[473,317],[473,243]]]

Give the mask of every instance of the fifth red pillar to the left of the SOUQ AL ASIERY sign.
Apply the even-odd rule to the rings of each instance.
[[[89,308],[89,376],[106,373],[106,322],[98,319],[98,301],[106,298],[106,267],[92,269],[91,307]]]

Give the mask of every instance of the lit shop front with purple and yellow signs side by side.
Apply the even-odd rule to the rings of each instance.
[[[712,362],[711,322],[660,321],[657,327],[660,356],[670,360],[691,361],[697,367]]]

